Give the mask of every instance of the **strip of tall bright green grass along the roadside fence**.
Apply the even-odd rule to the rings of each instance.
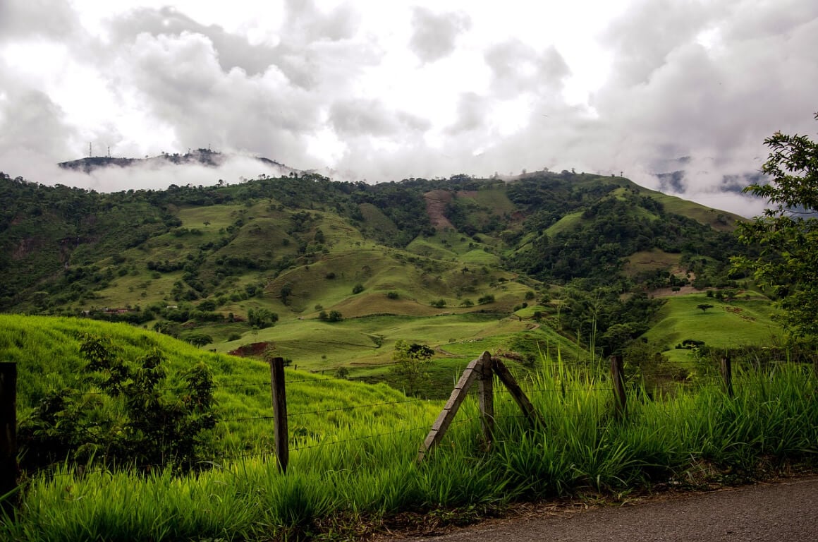
[[[281,475],[272,458],[217,463],[195,477],[80,472],[63,467],[25,482],[2,540],[282,540],[353,536],[402,511],[483,509],[529,499],[619,493],[670,480],[755,477],[788,462],[815,465],[818,400],[811,370],[781,365],[655,401],[631,400],[613,416],[605,378],[548,359],[525,383],[544,419],[530,427],[496,391],[488,450],[479,411],[467,400],[423,463],[418,446],[431,417],[408,410],[335,427],[295,449]],[[645,396],[645,395],[643,395]]]

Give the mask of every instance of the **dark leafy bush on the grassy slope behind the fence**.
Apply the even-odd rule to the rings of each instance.
[[[85,382],[47,393],[19,427],[26,450],[21,466],[42,468],[67,460],[110,467],[190,470],[210,458],[216,423],[213,377],[191,367],[185,386],[168,391],[164,354],[152,350],[133,364],[108,338],[80,337]],[[99,392],[91,392],[98,389]]]

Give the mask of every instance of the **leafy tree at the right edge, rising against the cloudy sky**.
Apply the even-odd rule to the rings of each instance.
[[[818,120],[818,114],[815,115]],[[818,337],[818,143],[776,132],[762,173],[767,183],[744,188],[765,198],[763,215],[739,224],[739,240],[757,246],[754,256],[733,258],[748,269],[782,309],[780,323],[797,338]]]

